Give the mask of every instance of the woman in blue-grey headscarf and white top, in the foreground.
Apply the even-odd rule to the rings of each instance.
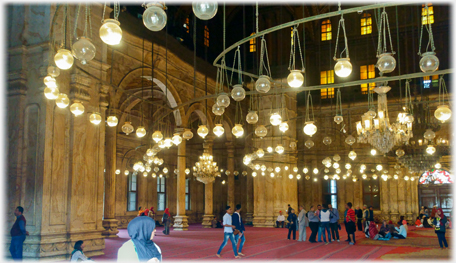
[[[131,220],[127,227],[130,240],[117,252],[118,262],[161,262],[161,250],[152,241],[155,237],[155,221],[147,216]]]

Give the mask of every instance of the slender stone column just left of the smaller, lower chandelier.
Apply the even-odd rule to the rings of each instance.
[[[176,133],[182,135],[183,128],[176,129]],[[174,217],[174,230],[188,230],[188,217],[185,215],[185,150],[186,140],[177,147],[177,215]]]

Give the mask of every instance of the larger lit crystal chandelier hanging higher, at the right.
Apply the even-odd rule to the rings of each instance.
[[[377,113],[371,109],[361,116],[361,121],[356,122],[358,142],[369,143],[383,154],[401,142],[408,142],[413,136],[413,119],[407,118],[408,114],[399,113],[397,122],[392,125],[389,122],[386,93],[390,89],[389,86],[374,88],[378,94]]]

